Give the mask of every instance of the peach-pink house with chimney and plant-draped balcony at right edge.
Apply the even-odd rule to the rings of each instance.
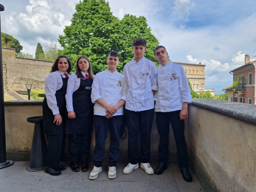
[[[238,77],[243,77],[239,86],[236,88],[233,101],[247,104],[256,104],[255,95],[255,71],[256,60],[250,61],[250,57],[248,54],[245,55],[244,65],[233,69],[230,73],[233,73],[234,79],[236,80]]]

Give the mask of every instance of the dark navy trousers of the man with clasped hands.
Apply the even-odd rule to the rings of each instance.
[[[107,129],[110,132],[109,158],[108,166],[116,166],[119,158],[119,141],[121,136],[121,128],[124,121],[124,115],[116,115],[109,119],[101,115],[93,115],[95,127],[95,147],[93,164],[96,167],[102,166],[102,161],[105,155],[105,140],[107,138]]]

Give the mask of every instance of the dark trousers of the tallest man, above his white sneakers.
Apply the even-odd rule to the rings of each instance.
[[[128,129],[128,160],[137,164],[139,160],[138,133],[141,132],[141,163],[150,160],[150,135],[154,118],[154,109],[144,111],[124,110]]]

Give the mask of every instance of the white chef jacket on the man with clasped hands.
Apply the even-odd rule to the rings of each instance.
[[[95,103],[94,115],[106,115],[106,108],[96,103],[102,98],[109,105],[116,105],[120,99],[126,100],[128,86],[124,75],[118,71],[111,73],[108,69],[95,75],[92,84],[91,99]],[[124,115],[123,107],[120,107],[113,115]]]

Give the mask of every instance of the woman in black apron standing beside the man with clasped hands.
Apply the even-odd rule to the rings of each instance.
[[[65,133],[68,134],[68,152],[72,171],[79,171],[78,150],[81,148],[82,171],[88,170],[88,156],[93,118],[91,86],[93,72],[88,57],[77,59],[76,73],[68,79],[66,93],[67,111]]]

